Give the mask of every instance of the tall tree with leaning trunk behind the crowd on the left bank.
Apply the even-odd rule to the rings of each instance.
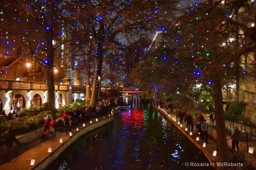
[[[164,26],[164,15],[172,17],[172,9],[176,3],[175,0],[160,1],[157,4],[153,1],[77,1],[76,8],[71,10],[71,16],[86,24],[84,29],[90,33],[95,53],[90,105],[98,102],[102,66],[104,60],[107,60],[105,58],[108,58],[108,52],[114,53],[123,48],[124,42],[129,44],[152,35],[156,28],[161,29]]]

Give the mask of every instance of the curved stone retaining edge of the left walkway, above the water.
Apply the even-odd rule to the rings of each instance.
[[[114,110],[113,115],[119,113],[119,110]],[[64,152],[71,144],[76,142],[77,139],[82,137],[84,134],[97,129],[101,126],[104,126],[114,120],[114,116],[107,117],[99,122],[94,122],[79,131],[77,131],[74,135],[72,135],[68,140],[63,142],[58,148],[56,148],[52,153],[50,153],[46,158],[44,158],[40,163],[36,164],[34,167],[31,167],[30,169],[33,170],[42,170],[49,166],[62,152]]]

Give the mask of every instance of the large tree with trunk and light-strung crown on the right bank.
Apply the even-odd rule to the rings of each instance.
[[[220,162],[230,161],[222,88],[241,80],[245,74],[241,56],[254,52],[256,47],[252,5],[234,0],[189,4],[187,9],[183,6],[186,10],[177,18],[176,26],[169,26],[167,33],[163,33],[162,45],[152,54],[149,51],[149,61],[138,66],[147,75],[144,81],[151,83],[151,97],[163,96],[172,89],[171,93],[195,100],[194,106],[200,109],[201,100],[196,93],[211,94]],[[141,67],[146,62],[151,71]],[[197,90],[196,85],[200,86]]]

